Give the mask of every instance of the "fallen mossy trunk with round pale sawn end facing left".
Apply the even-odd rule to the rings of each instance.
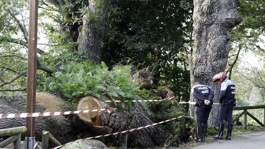
[[[134,129],[184,114],[183,112],[178,113],[183,109],[179,107],[176,102],[171,101],[163,101],[161,103],[151,104],[128,102],[105,104],[101,103],[96,98],[85,97],[80,100],[77,107],[77,110],[93,110],[98,108],[110,107],[117,108],[117,110],[114,110],[111,113],[98,111],[94,113],[79,114],[82,120],[92,126],[91,130],[95,132],[95,135],[104,135],[128,129]],[[159,113],[159,116],[157,116],[157,113]],[[170,114],[171,117],[169,116]],[[148,127],[146,129],[141,129],[139,131],[130,132],[128,133],[128,144],[129,146],[150,147],[161,146],[165,144],[166,141],[168,141],[168,144],[172,145],[174,143],[179,143],[176,143],[176,140],[189,140],[189,136],[192,133],[190,131],[192,129],[192,126],[185,126],[186,123],[180,123],[177,127],[179,127],[179,129],[180,127],[182,127],[183,132],[181,130],[178,130],[179,134],[172,134],[171,126],[177,125],[176,123],[179,122],[170,122],[169,124],[165,124],[167,125],[166,129],[163,125],[157,125]],[[102,141],[107,145],[120,146],[122,142],[122,135],[105,137],[102,139]]]

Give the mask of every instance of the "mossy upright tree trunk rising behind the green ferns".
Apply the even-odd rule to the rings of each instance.
[[[104,20],[110,5],[109,0],[89,0],[89,7],[83,16],[78,51],[84,59],[100,63],[100,47],[104,33]]]

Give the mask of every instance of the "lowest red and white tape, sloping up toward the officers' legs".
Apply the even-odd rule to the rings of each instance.
[[[54,147],[52,149],[57,149],[57,148],[63,147],[65,145],[71,144],[71,143],[76,142],[76,141],[88,140],[88,139],[94,139],[94,138],[100,138],[100,137],[106,137],[106,136],[110,136],[110,135],[118,135],[118,134],[122,134],[122,133],[126,133],[126,132],[133,132],[135,130],[140,130],[140,129],[147,128],[147,127],[150,127],[150,126],[155,126],[155,125],[159,125],[159,124],[162,124],[162,123],[166,123],[168,121],[176,120],[176,119],[181,118],[181,117],[189,117],[189,116],[179,116],[179,117],[175,117],[175,118],[172,118],[172,119],[169,119],[169,120],[165,120],[165,121],[162,121],[162,122],[158,122],[158,123],[154,123],[154,124],[151,124],[151,125],[146,125],[146,126],[134,128],[134,129],[129,129],[129,130],[121,131],[121,132],[115,132],[115,133],[109,133],[107,135],[98,135],[98,136],[95,136],[95,137],[78,139],[78,140],[75,140],[75,141],[72,141],[72,142],[68,142],[66,144]],[[192,118],[192,117],[189,117],[189,118]]]

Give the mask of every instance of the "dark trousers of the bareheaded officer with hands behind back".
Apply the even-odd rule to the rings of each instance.
[[[212,105],[205,105],[201,104],[201,106],[197,107],[196,114],[197,114],[197,126],[201,127],[202,124],[203,126],[208,126],[208,118],[210,115],[212,109]]]

